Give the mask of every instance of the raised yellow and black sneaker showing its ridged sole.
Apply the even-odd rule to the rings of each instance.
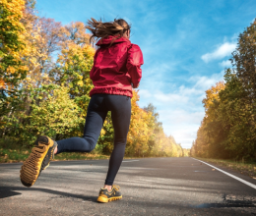
[[[26,187],[32,187],[42,170],[45,170],[54,158],[57,142],[45,135],[39,135],[34,142],[32,153],[21,169],[21,182]]]

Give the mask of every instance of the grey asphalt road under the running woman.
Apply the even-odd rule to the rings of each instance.
[[[256,215],[256,189],[193,158],[124,160],[123,198],[109,203],[96,202],[108,160],[52,162],[32,188],[20,183],[21,165],[0,164],[0,215]]]

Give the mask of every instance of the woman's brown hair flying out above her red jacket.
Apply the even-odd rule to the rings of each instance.
[[[122,37],[126,30],[131,29],[131,26],[128,25],[127,22],[123,19],[114,19],[113,22],[103,23],[101,19],[96,21],[96,19],[91,18],[91,20],[88,20],[87,28],[92,32],[90,43],[94,44],[98,39],[102,39],[111,35],[116,36],[111,41],[112,44],[114,40]]]

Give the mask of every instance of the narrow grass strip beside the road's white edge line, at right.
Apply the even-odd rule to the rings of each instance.
[[[242,160],[221,160],[221,159],[210,159],[210,158],[200,158],[195,157],[196,159],[209,162],[218,166],[226,167],[231,170],[239,171],[240,173],[250,176],[253,179],[256,179],[256,162],[246,162]]]

